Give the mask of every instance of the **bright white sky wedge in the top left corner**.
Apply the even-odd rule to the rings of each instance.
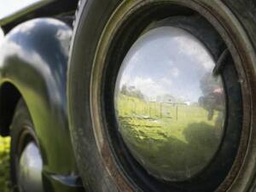
[[[2,2],[3,1],[3,2]],[[4,16],[10,15],[26,5],[39,2],[40,0],[0,0],[0,19]]]

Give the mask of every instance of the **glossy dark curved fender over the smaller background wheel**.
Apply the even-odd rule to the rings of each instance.
[[[66,96],[71,35],[60,20],[29,20],[9,32],[0,49],[0,84],[14,84],[24,98],[48,177],[76,172]]]

